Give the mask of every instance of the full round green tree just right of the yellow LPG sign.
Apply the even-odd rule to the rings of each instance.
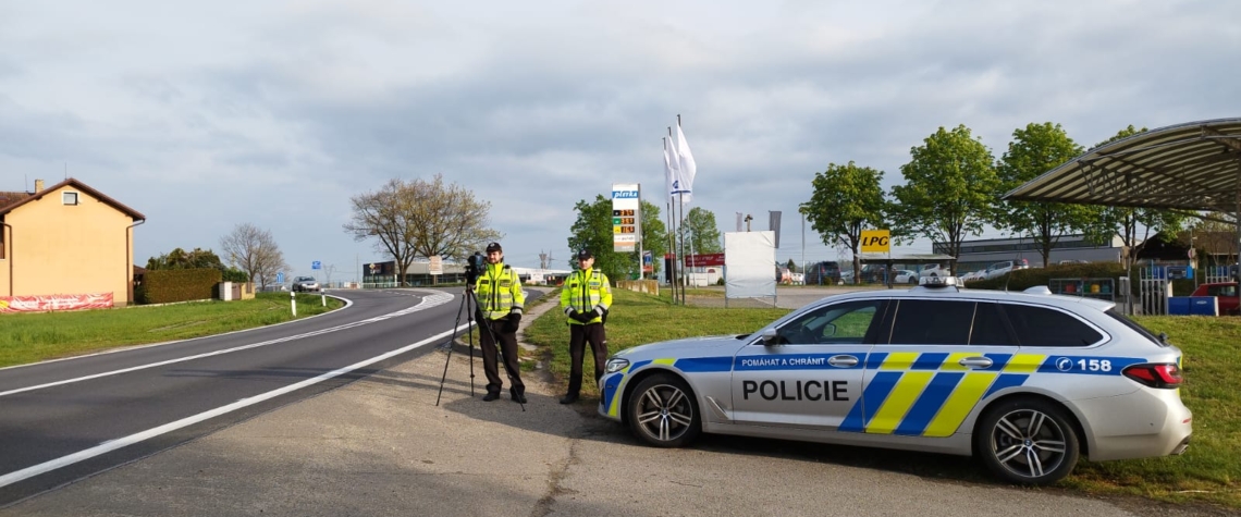
[[[901,166],[906,183],[892,187],[892,233],[898,241],[921,236],[942,242],[943,252],[959,257],[965,236],[982,233],[994,221],[995,159],[964,125],[939,128],[910,155]]]

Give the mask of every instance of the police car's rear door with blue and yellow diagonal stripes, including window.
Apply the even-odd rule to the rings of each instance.
[[[891,309],[890,334],[866,358],[862,404],[843,431],[951,436],[987,393],[1041,362],[1015,353],[994,301],[905,299]]]

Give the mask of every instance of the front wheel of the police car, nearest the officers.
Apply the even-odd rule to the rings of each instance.
[[[649,445],[679,448],[701,430],[694,394],[676,376],[660,373],[642,379],[629,397],[627,412],[629,429]]]

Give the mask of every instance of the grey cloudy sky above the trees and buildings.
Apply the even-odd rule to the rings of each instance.
[[[490,201],[510,264],[565,268],[577,201],[640,182],[663,206],[680,114],[694,206],[721,231],[782,211],[778,259],[834,259],[797,214],[828,164],[890,187],[938,126],[998,157],[1031,122],[1091,146],[1241,115],[1237,20],[1219,0],[0,1],[0,190],[67,174],[115,197],[148,217],[139,263],[248,222],[290,273],[349,280],[385,259],[341,229],[349,197],[443,174]]]

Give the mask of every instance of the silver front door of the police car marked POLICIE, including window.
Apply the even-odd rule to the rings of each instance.
[[[733,422],[834,430],[861,395],[872,327],[886,300],[805,311],[742,347],[732,362]]]

